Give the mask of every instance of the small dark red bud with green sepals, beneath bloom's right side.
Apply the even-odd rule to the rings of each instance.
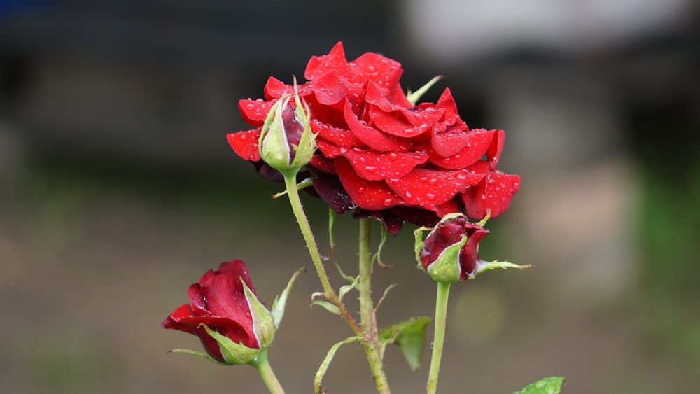
[[[462,213],[450,213],[428,233],[424,242],[421,233],[428,229],[421,227],[416,230],[418,267],[442,283],[474,279],[477,274],[494,268],[530,267],[479,258],[479,241],[489,235],[489,230],[481,224],[470,223]]]

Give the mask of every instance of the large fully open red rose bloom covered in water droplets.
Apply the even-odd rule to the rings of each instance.
[[[401,64],[375,53],[352,62],[342,43],[309,60],[297,87],[309,106],[318,149],[300,178],[311,176],[312,195],[336,212],[377,218],[396,234],[405,221],[433,226],[447,213],[480,220],[510,205],[519,176],[496,168],[505,133],[469,129],[449,89],[436,103],[413,104],[399,78]],[[235,153],[255,164],[265,178],[281,180],[260,160],[260,129],[272,105],[292,85],[270,77],[265,99],[239,102],[255,127],[228,134]]]

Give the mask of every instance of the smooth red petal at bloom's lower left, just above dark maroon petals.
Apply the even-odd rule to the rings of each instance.
[[[335,158],[335,171],[343,188],[360,208],[377,211],[403,204],[403,200],[386,183],[360,178],[345,157]]]

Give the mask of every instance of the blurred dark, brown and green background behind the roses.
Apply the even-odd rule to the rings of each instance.
[[[402,62],[413,90],[453,92],[470,127],[505,129],[522,177],[482,257],[534,264],[453,286],[442,393],[511,393],[549,375],[565,393],[700,387],[700,29],[693,0],[0,1],[0,391],[264,393],[250,367],[168,349],[160,328],[219,262],[248,262],[268,304],[311,264],[281,185],[225,134],[268,76],[302,78],[343,41]],[[306,206],[323,251],[326,209]],[[335,260],[356,266],[356,223]],[[378,227],[375,228],[378,241]],[[433,314],[412,227],[388,239],[380,325]],[[332,267],[332,266],[331,266]],[[332,272],[333,269],[330,269]],[[334,276],[333,282],[342,281]],[[270,360],[311,392],[351,332],[297,280]],[[349,299],[352,297],[349,296]],[[349,300],[351,309],[357,309]],[[429,328],[432,335],[432,328]],[[429,342],[429,341],[428,341]],[[395,393],[428,374],[387,351]],[[370,393],[357,346],[330,393]]]

